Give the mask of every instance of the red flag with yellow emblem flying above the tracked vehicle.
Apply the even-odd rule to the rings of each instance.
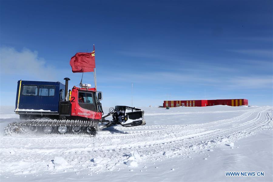
[[[94,72],[95,50],[93,52],[78,52],[70,59],[72,72]]]

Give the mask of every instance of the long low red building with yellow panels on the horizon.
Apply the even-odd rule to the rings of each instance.
[[[203,106],[248,106],[248,99],[217,99],[217,100],[164,100],[163,107],[203,107]]]

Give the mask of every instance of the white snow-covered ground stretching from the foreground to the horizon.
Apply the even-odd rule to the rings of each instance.
[[[96,137],[17,137],[4,136],[3,127],[19,118],[1,106],[1,181],[273,180],[272,107],[141,109],[146,125],[114,126]]]

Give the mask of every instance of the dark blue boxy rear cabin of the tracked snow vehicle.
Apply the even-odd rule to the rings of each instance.
[[[21,89],[19,91],[20,82]],[[20,97],[18,99],[19,92]],[[59,101],[64,101],[64,95],[65,85],[60,82],[19,80],[15,109],[50,110],[51,112],[59,112]]]

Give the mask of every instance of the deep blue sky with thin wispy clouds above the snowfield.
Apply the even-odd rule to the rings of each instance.
[[[96,48],[103,106],[248,99],[272,106],[272,1],[1,1],[1,105],[17,81],[78,85]],[[83,83],[93,84],[93,73]]]

